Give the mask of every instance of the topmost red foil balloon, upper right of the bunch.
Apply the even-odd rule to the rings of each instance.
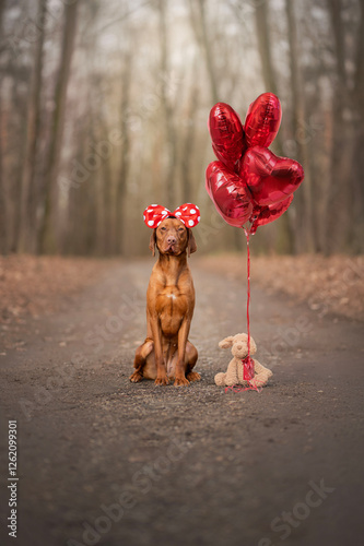
[[[263,93],[250,104],[245,119],[245,138],[248,146],[269,146],[281,124],[282,110],[278,96]]]

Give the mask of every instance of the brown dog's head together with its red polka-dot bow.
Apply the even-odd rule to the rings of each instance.
[[[191,232],[200,222],[199,207],[192,203],[185,203],[174,212],[161,205],[150,205],[144,211],[144,222],[153,228],[149,248],[153,256],[155,247],[161,254],[180,256],[196,252],[197,245]]]

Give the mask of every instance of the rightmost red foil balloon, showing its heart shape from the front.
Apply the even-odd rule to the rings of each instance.
[[[278,157],[267,147],[260,146],[247,150],[239,175],[259,206],[284,201],[304,179],[300,163]]]

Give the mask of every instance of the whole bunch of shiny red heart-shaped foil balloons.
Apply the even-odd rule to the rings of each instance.
[[[300,163],[268,150],[281,118],[281,104],[273,93],[263,93],[250,104],[244,127],[228,104],[218,103],[210,111],[212,149],[220,161],[208,166],[206,188],[231,226],[250,222],[255,233],[273,222],[287,210],[304,179]]]

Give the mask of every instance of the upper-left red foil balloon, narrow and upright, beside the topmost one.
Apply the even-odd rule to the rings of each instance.
[[[234,170],[246,147],[238,115],[228,104],[215,104],[210,111],[209,131],[218,159]]]

